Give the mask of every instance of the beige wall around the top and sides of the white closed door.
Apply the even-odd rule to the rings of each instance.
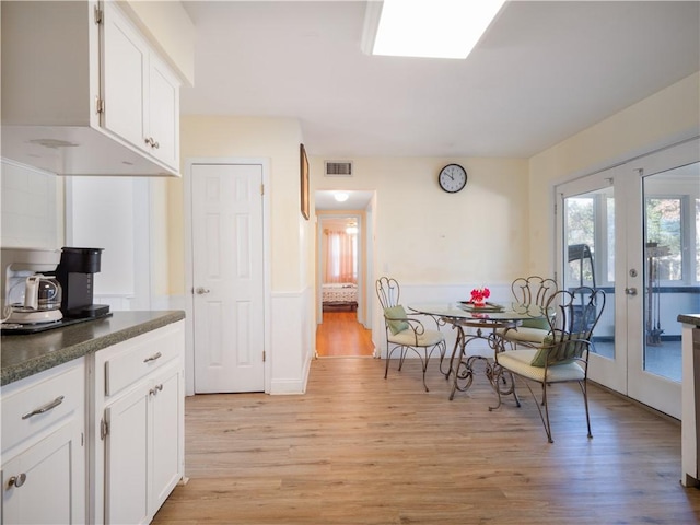
[[[200,158],[265,158],[270,161],[271,289],[298,292],[305,287],[300,231],[310,226],[300,212],[299,144],[301,129],[291,118],[232,118],[183,116],[180,170]],[[185,283],[183,184],[168,180],[170,288],[182,294]]]

